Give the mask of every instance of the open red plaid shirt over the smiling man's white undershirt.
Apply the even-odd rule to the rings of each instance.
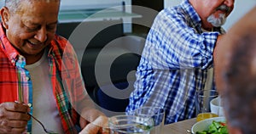
[[[79,114],[72,104],[84,100],[86,91],[72,45],[61,36],[49,44],[49,72],[61,124],[65,133],[78,133]],[[0,26],[0,103],[32,103],[32,81],[24,68],[26,59],[13,47]],[[72,104],[71,104],[72,102]],[[42,102],[43,103],[43,102]],[[29,129],[28,129],[29,130]]]

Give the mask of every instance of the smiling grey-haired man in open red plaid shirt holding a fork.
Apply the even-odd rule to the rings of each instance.
[[[60,0],[6,0],[0,25],[0,133],[98,133],[94,109],[67,39],[55,35]],[[32,104],[29,108],[28,103]]]

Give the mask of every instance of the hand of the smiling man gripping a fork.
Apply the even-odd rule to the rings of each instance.
[[[0,133],[22,133],[27,121],[31,119],[26,104],[8,102],[0,103]]]

